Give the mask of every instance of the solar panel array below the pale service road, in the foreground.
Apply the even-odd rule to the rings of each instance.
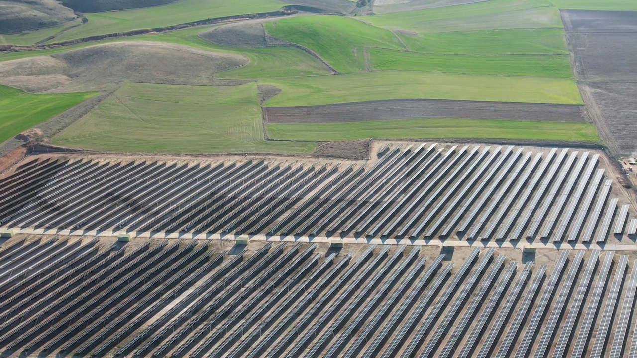
[[[599,266],[596,250],[552,251],[554,263],[540,265],[518,264],[506,250],[456,248],[454,265],[419,246],[220,243],[5,241],[3,356],[620,357],[637,349],[637,262],[612,251]]]

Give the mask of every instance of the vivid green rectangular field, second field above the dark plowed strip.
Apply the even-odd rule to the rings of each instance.
[[[438,55],[370,48],[372,69],[573,77],[569,55]]]

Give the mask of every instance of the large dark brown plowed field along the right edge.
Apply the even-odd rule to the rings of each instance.
[[[613,155],[637,151],[637,11],[562,10],[590,117]]]

